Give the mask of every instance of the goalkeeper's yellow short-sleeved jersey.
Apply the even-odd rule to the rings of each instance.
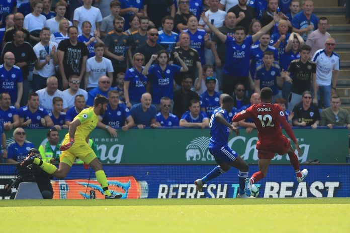
[[[74,118],[78,119],[81,123],[80,126],[76,128],[74,140],[86,142],[86,138],[89,136],[98,123],[98,115],[95,114],[93,107],[83,109],[79,114]],[[73,120],[73,121],[74,121]],[[69,140],[69,132],[65,135],[64,139]]]

